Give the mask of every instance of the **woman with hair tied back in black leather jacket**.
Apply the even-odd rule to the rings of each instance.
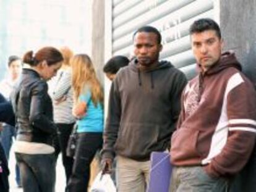
[[[18,128],[14,152],[25,192],[54,191],[53,138],[57,133],[46,81],[56,75],[62,61],[61,52],[53,47],[41,48],[35,54],[28,51],[23,57],[30,68],[22,70],[12,104]]]

